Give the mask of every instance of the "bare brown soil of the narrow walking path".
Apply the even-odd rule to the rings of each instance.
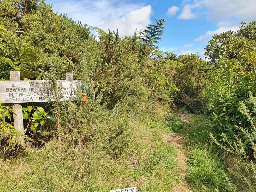
[[[182,113],[179,114],[178,118],[179,120],[184,124],[185,129],[187,128],[187,125],[193,115],[188,113]],[[174,191],[175,192],[191,192],[190,189],[188,189],[186,186],[188,186],[185,176],[186,176],[186,170],[188,168],[186,163],[186,156],[185,156],[185,149],[183,148],[183,144],[185,143],[186,139],[183,134],[180,133],[171,133],[164,136],[164,139],[172,145],[177,150],[177,157],[176,161],[179,164],[179,174],[180,174],[180,183],[176,183],[174,185]]]

